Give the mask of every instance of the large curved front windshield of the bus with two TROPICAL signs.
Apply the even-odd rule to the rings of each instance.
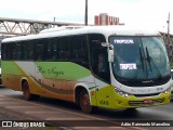
[[[111,36],[109,42],[114,46],[112,70],[117,79],[152,82],[170,76],[161,37]]]

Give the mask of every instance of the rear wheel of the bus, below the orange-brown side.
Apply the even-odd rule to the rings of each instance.
[[[22,83],[23,95],[26,101],[38,100],[40,96],[37,94],[31,94],[29,90],[29,84],[27,81]]]

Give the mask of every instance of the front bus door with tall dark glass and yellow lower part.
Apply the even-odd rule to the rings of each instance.
[[[106,42],[106,40],[103,35],[93,35],[89,37],[89,40],[91,51],[91,66],[92,73],[95,77],[96,86],[96,102],[98,106],[103,106],[108,104],[106,98],[109,93],[106,92],[106,89],[110,83],[107,48],[102,46],[102,42]]]

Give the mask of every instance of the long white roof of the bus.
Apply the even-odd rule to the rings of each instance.
[[[32,39],[41,39],[41,38],[52,38],[52,37],[61,37],[61,36],[71,36],[71,35],[80,35],[80,34],[103,34],[108,37],[110,35],[116,36],[160,36],[159,31],[156,30],[146,30],[146,29],[135,29],[134,27],[127,26],[83,26],[74,29],[53,29],[53,31],[43,31],[38,35],[28,35],[28,36],[19,36],[3,39],[2,42],[11,42],[11,41],[22,41],[22,40],[32,40]]]

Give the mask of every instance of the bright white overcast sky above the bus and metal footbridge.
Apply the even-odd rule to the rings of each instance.
[[[2,0],[0,17],[84,23],[85,0]],[[94,15],[108,13],[125,26],[154,28],[173,34],[172,0],[88,0],[89,24]]]

